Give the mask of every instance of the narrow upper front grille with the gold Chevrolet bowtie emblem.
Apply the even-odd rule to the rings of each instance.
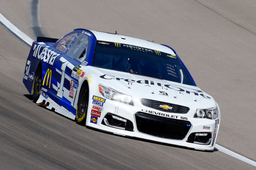
[[[140,99],[141,103],[144,106],[147,106],[149,108],[153,108],[159,111],[164,111],[164,112],[169,112],[169,113],[182,113],[182,114],[186,114],[189,112],[189,108],[186,106],[181,106],[181,105],[175,105],[172,103],[167,103],[167,102],[160,102],[157,100],[151,100],[151,99]],[[168,105],[170,107],[172,107],[172,109],[164,109],[164,108],[160,108],[160,105]]]

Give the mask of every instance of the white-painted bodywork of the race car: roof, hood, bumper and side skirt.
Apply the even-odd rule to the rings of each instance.
[[[91,32],[96,36],[97,40],[130,44],[175,55],[175,52],[172,51],[171,48],[146,40],[118,34],[107,34],[98,31]],[[215,102],[212,96],[201,91],[200,88],[153,77],[146,77],[121,71],[113,71],[105,68],[96,68],[89,65],[80,66],[80,70],[85,72],[85,75],[83,77],[79,77],[78,88],[73,107],[76,108],[81,84],[86,80],[89,85],[89,103],[86,115],[86,126],[122,136],[132,136],[136,138],[148,139],[151,141],[174,144],[199,150],[214,149],[216,138],[218,136],[221,113],[218,104]],[[70,79],[70,77],[65,78]],[[128,105],[122,102],[106,99],[99,91],[99,84],[108,86],[115,89],[116,91],[132,96],[134,105]],[[64,90],[64,96],[68,96],[67,93],[69,93],[69,90]],[[101,107],[102,110],[100,117],[98,117],[96,124],[90,122],[91,111],[95,110],[95,107],[93,108],[93,96],[105,99],[105,102]],[[189,111],[188,113],[170,113],[166,112],[165,110],[160,111],[155,108],[150,108],[143,105],[141,99],[150,99],[186,106],[189,108]],[[60,107],[50,98],[45,99],[45,97],[41,95],[37,103],[41,103],[43,100],[46,100],[45,103],[49,103],[47,108],[55,108],[56,112],[63,114],[64,116],[67,116],[71,119],[75,119],[75,115],[73,115],[73,113],[70,113],[64,107]],[[216,106],[218,108],[218,116],[216,119],[194,118],[197,109],[213,108]],[[166,139],[160,136],[143,133],[138,130],[138,125],[136,123],[136,113],[138,112],[162,118],[189,121],[190,128],[183,139]],[[130,120],[133,124],[133,131],[123,130],[113,126],[107,126],[104,123],[102,124],[107,113],[111,113],[112,115],[120,116]],[[211,133],[211,141],[209,144],[187,142],[191,133]]]

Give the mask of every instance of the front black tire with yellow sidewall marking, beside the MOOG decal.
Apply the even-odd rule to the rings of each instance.
[[[85,125],[86,115],[89,102],[89,88],[85,83],[79,93],[78,102],[76,106],[76,122],[80,125]]]

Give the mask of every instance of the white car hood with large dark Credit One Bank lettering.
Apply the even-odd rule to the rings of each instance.
[[[208,104],[209,107],[215,105],[212,96],[196,86],[104,68],[90,67],[90,72],[94,74],[93,79],[95,77],[99,80],[97,82],[139,99],[146,98],[177,104],[183,101],[188,102],[189,105],[204,102],[204,105]]]

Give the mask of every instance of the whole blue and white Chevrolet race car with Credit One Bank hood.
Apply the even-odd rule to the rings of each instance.
[[[81,125],[214,150],[220,108],[168,45],[86,29],[38,37],[23,83],[36,103]]]

